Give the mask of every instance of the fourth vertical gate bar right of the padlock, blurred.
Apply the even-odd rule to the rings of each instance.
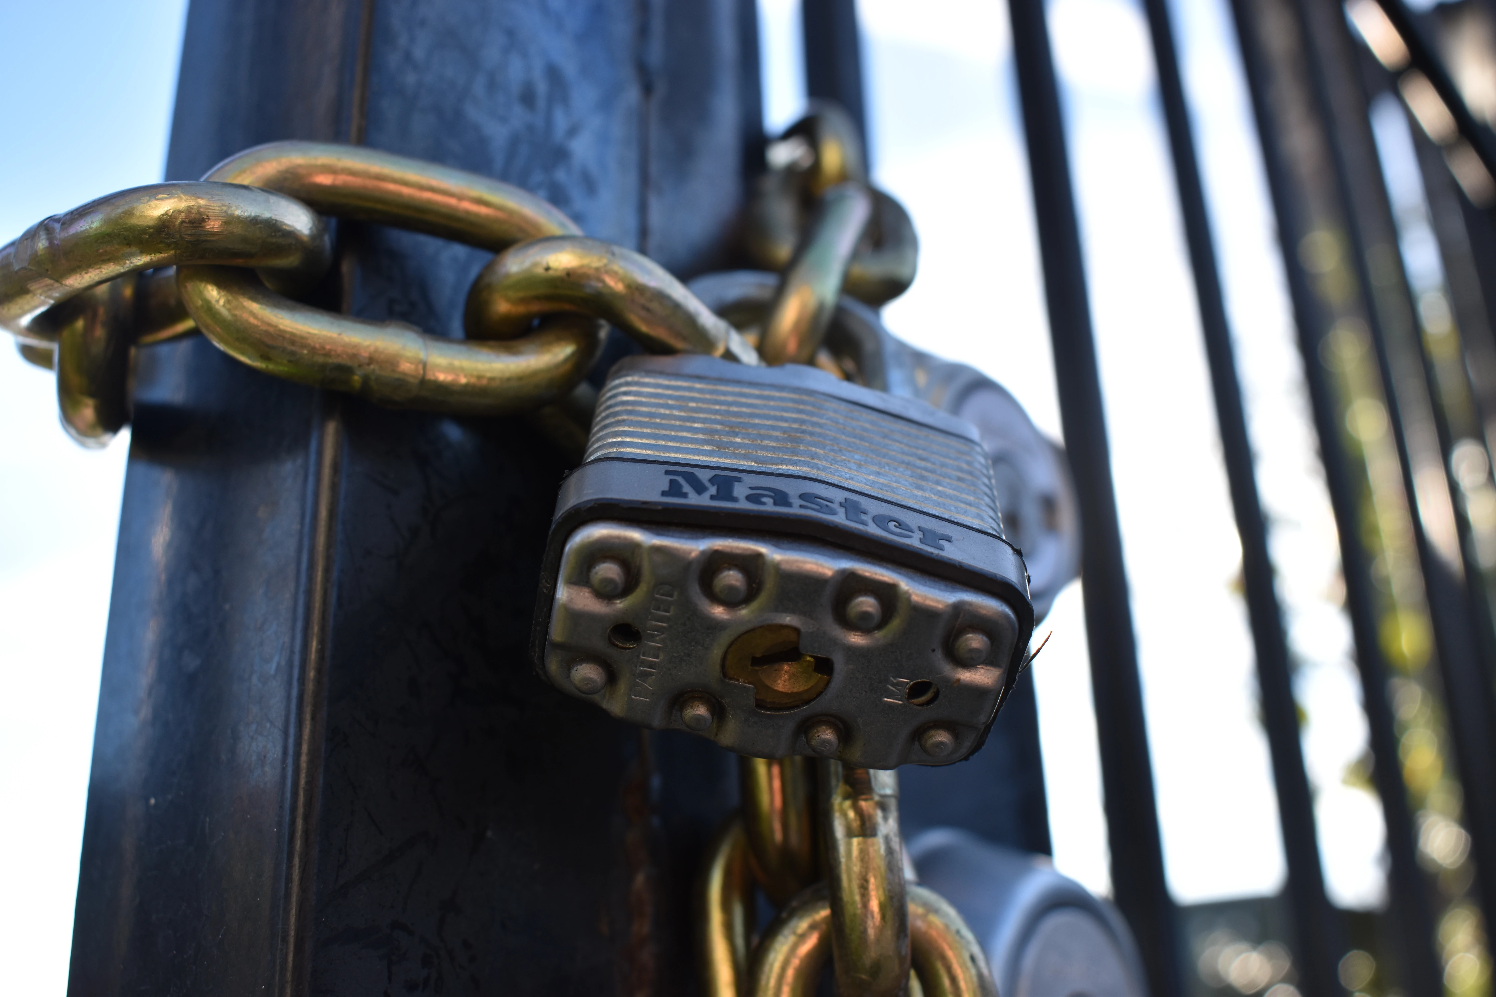
[[[1299,6],[1300,25],[1315,58],[1310,58],[1309,79],[1313,84],[1315,103],[1330,138],[1331,163],[1340,190],[1346,232],[1354,248],[1355,277],[1367,299],[1367,324],[1375,347],[1376,365],[1381,372],[1387,401],[1388,422],[1397,444],[1397,459],[1402,465],[1403,490],[1412,519],[1414,543],[1418,567],[1423,571],[1427,590],[1429,616],[1433,622],[1439,674],[1444,680],[1450,729],[1454,735],[1454,753],[1465,786],[1465,818],[1474,840],[1478,895],[1487,924],[1496,915],[1496,888],[1492,871],[1496,870],[1496,700],[1483,667],[1483,632],[1475,607],[1469,601],[1466,578],[1468,567],[1445,564],[1429,538],[1427,523],[1421,508],[1427,499],[1420,499],[1415,480],[1412,450],[1412,420],[1433,420],[1432,399],[1420,389],[1423,350],[1414,344],[1399,350],[1394,363],[1393,351],[1402,345],[1393,341],[1396,332],[1403,338],[1417,336],[1412,314],[1412,294],[1400,265],[1387,269],[1390,277],[1379,280],[1372,271],[1373,248],[1399,260],[1396,229],[1391,220],[1391,205],[1387,188],[1378,170],[1376,145],[1372,139],[1367,117],[1366,94],[1361,88],[1355,61],[1355,42],[1351,37],[1340,4],[1333,0],[1316,0]],[[1337,72],[1330,73],[1334,67]],[[1412,353],[1409,357],[1408,354]],[[1399,377],[1403,366],[1412,366],[1409,380]],[[1436,444],[1438,445],[1438,444]],[[1436,450],[1442,471],[1442,483],[1448,487],[1450,466],[1447,453]],[[1480,568],[1475,567],[1478,574]],[[1478,584],[1478,578],[1475,580]]]

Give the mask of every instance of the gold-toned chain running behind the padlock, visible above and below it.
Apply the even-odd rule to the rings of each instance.
[[[914,280],[914,229],[898,202],[868,187],[856,127],[838,108],[814,109],[769,158],[748,242],[761,266],[784,271],[778,288],[770,302],[749,300],[754,284],[738,281],[738,299],[714,303],[752,329],[766,363],[854,375],[821,348],[841,293],[871,303],[902,293]],[[835,753],[836,743],[820,747]],[[739,789],[742,807],[700,879],[708,997],[811,997],[827,960],[842,997],[996,997],[960,915],[905,882],[896,773],[741,758]],[[757,943],[755,888],[779,907]]]

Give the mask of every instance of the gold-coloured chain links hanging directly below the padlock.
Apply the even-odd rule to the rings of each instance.
[[[896,773],[742,758],[739,785],[697,897],[708,997],[809,997],[827,961],[847,997],[996,996],[956,909],[905,882]],[[757,940],[755,888],[779,907]]]

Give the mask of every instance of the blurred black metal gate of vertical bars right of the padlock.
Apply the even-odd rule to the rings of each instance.
[[[1454,448],[1463,439],[1483,447],[1483,453],[1489,447],[1484,417],[1492,411],[1492,399],[1481,386],[1489,377],[1486,353],[1493,336],[1486,294],[1493,274],[1487,245],[1496,146],[1489,127],[1469,114],[1439,61],[1433,37],[1441,30],[1459,28],[1441,25],[1432,15],[1414,15],[1400,0],[1364,0],[1343,7],[1333,0],[1233,0],[1339,528],[1345,602],[1364,691],[1375,785],[1388,830],[1391,903],[1385,918],[1367,930],[1333,910],[1325,898],[1293,667],[1269,556],[1269,525],[1255,483],[1254,444],[1246,430],[1170,4],[1146,0],[1144,7],[1242,538],[1263,722],[1288,859],[1285,906],[1299,988],[1310,994],[1342,990],[1345,975],[1337,975],[1337,964],[1351,948],[1352,933],[1360,945],[1373,945],[1390,957],[1393,967],[1378,982],[1388,991],[1438,994],[1484,987],[1475,981],[1483,973],[1489,976],[1489,969],[1469,976],[1459,975],[1463,967],[1450,969],[1462,952],[1451,943],[1451,912],[1468,927],[1472,901],[1487,922],[1496,910],[1489,876],[1477,873],[1496,861],[1492,852],[1496,848],[1492,813],[1496,644],[1490,638],[1490,564],[1478,552],[1480,526],[1474,520],[1480,513],[1471,505],[1471,493],[1486,480],[1477,472],[1480,480],[1468,477],[1462,483],[1454,471]],[[1194,973],[1164,882],[1059,91],[1043,1],[1011,0],[1010,13],[1055,368],[1082,502],[1086,623],[1113,885],[1143,948],[1155,991],[1176,994],[1200,984],[1186,985]],[[1471,3],[1451,4],[1444,15],[1445,21],[1490,16]],[[1447,260],[1450,293],[1463,302],[1453,342],[1435,342],[1436,335],[1451,333],[1430,330],[1430,320],[1417,315],[1399,256],[1369,121],[1370,102],[1384,91],[1400,93],[1408,102],[1420,129],[1424,182],[1444,199],[1439,251]],[[1346,362],[1343,348],[1339,360],[1331,356],[1345,342],[1358,350],[1360,360]],[[1408,587],[1426,593],[1418,598],[1399,599],[1373,572],[1385,553],[1379,546],[1385,523],[1378,523],[1376,516],[1378,499],[1385,504],[1387,496],[1372,492],[1387,487],[1369,475],[1364,439],[1345,427],[1348,410],[1363,398],[1378,401],[1388,414],[1390,445],[1402,468],[1397,481],[1402,492],[1396,499],[1411,511],[1408,526],[1415,549],[1415,562],[1406,570],[1417,577]],[[1258,439],[1255,445],[1272,442]],[[1430,495],[1429,478],[1417,477],[1420,468],[1430,465],[1438,480],[1433,489],[1444,495]],[[1453,556],[1438,550],[1429,537],[1430,502],[1454,508],[1459,543]],[[1408,625],[1399,614],[1405,613],[1417,620],[1426,616],[1433,634],[1429,661],[1414,661],[1399,646],[1397,628]],[[1435,737],[1447,737],[1453,744],[1453,752],[1441,761],[1448,770],[1459,770],[1463,785],[1459,821],[1474,843],[1457,877],[1448,870],[1441,877],[1439,867],[1420,855],[1420,828],[1430,819],[1429,794],[1405,780],[1403,768],[1409,746],[1429,735],[1432,720],[1394,714],[1394,703],[1406,685],[1444,704],[1448,720],[1447,732],[1439,729]],[[1429,871],[1429,865],[1436,871]],[[1480,937],[1480,928],[1475,933]],[[1466,958],[1489,966],[1484,952],[1466,952]]]

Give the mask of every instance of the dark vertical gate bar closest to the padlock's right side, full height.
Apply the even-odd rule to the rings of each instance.
[[[1080,511],[1080,577],[1112,886],[1118,907],[1137,936],[1152,993],[1176,997],[1182,993],[1179,939],[1164,879],[1153,768],[1059,85],[1043,0],[1010,0],[1008,16],[1061,422]]]

